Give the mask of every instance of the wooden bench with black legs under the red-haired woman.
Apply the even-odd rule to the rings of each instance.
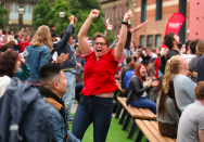
[[[148,119],[148,120],[155,120],[157,117],[156,115],[154,115],[150,109],[148,108],[137,108],[137,107],[131,107],[130,105],[127,106],[126,104],[126,98],[117,98],[118,102],[120,103],[118,108],[117,108],[117,112],[116,112],[116,115],[115,115],[115,118],[118,118],[119,115],[120,115],[120,112],[122,109],[124,108],[124,113],[122,114],[122,117],[119,119],[119,125],[123,125],[124,124],[124,120],[125,120],[125,124],[122,128],[122,130],[127,130],[128,128],[128,125],[130,122],[130,119],[132,118],[133,120],[135,119]],[[136,131],[136,124],[132,122],[132,126],[130,128],[130,131],[129,131],[129,134],[128,134],[128,138],[127,139],[132,139],[133,137],[133,133]]]

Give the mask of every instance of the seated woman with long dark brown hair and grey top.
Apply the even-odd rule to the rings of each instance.
[[[164,79],[164,81],[166,81]],[[163,137],[177,138],[178,128],[178,106],[175,99],[174,82],[169,81],[168,92],[164,93],[156,100],[156,112],[158,118],[158,130]]]

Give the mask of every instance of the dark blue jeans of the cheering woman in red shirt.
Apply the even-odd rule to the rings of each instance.
[[[93,122],[94,142],[105,142],[111,125],[113,105],[112,98],[82,95],[73,121],[73,134],[82,140],[87,128]]]

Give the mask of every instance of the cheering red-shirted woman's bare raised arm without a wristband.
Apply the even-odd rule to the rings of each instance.
[[[89,30],[92,20],[98,17],[99,14],[100,14],[100,11],[95,9],[92,10],[78,33],[78,43],[79,43],[81,53],[84,55],[91,51],[91,48],[89,47],[87,42],[86,36],[87,36],[87,33]]]

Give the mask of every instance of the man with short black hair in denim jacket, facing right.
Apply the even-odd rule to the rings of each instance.
[[[62,95],[67,91],[67,80],[62,72],[60,63],[49,63],[40,68],[40,88],[42,96],[46,96],[52,115],[52,125],[59,142],[80,142],[68,131],[66,120],[66,105]],[[67,141],[68,139],[68,141]]]

